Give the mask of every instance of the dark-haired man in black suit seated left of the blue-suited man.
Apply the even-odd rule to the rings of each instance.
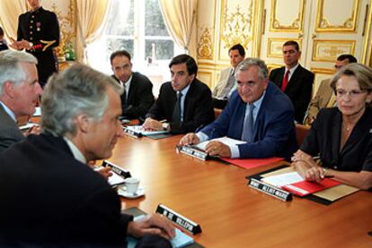
[[[198,65],[188,55],[173,57],[172,81],[164,82],[159,98],[146,115],[144,127],[172,133],[195,132],[214,119],[212,93],[196,76]]]

